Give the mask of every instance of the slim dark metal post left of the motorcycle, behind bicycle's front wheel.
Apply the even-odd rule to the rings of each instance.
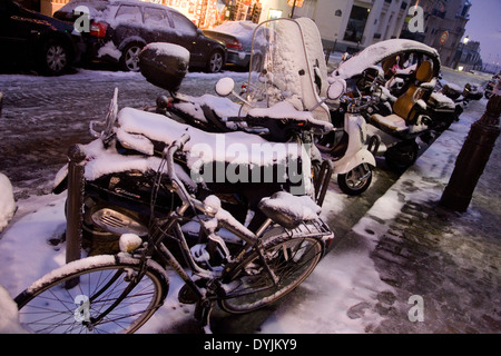
[[[80,259],[81,206],[84,200],[84,170],[86,152],[80,145],[68,149],[68,197],[66,206],[66,263]]]

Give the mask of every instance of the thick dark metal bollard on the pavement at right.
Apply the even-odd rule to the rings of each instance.
[[[499,88],[499,86],[498,86]],[[500,135],[501,96],[492,96],[485,113],[471,126],[440,205],[464,212]]]

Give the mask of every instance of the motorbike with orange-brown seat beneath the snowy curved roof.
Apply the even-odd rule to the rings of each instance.
[[[367,148],[375,156],[384,155],[393,169],[413,165],[419,141],[430,145],[459,119],[470,100],[479,98],[474,86],[466,85],[456,93],[454,86],[442,85],[434,66],[438,62],[424,60],[410,67],[409,73],[396,72],[389,80],[371,67],[350,81],[352,95],[357,92],[371,101],[361,111],[367,121]]]

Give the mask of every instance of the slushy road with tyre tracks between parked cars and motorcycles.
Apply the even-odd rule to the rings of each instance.
[[[214,92],[214,82],[222,76],[194,73],[184,88],[189,88],[191,95]],[[119,106],[141,108],[165,93],[140,73],[80,70],[52,78],[0,76],[0,171],[12,181],[17,198],[50,191],[51,179],[66,162],[68,148],[92,139],[89,122],[104,119],[115,87],[119,90]]]

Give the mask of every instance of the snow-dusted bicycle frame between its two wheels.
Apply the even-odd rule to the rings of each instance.
[[[277,286],[279,280],[275,273],[272,270],[269,265],[266,261],[266,258],[264,256],[263,250],[263,241],[265,233],[268,231],[268,228],[272,226],[275,226],[274,221],[271,218],[267,218],[262,226],[257,229],[256,233],[253,233],[248,230],[244,225],[242,225],[239,221],[233,218],[229,214],[218,214],[220,211],[225,211],[223,208],[219,208],[219,210],[215,209],[213,206],[207,205],[205,202],[202,202],[200,200],[191,197],[183,182],[178,179],[176,176],[175,169],[174,169],[174,154],[179,150],[183,145],[189,139],[188,135],[184,135],[180,140],[175,141],[170,147],[166,148],[164,150],[163,155],[163,164],[160,164],[160,167],[158,169],[157,175],[157,181],[154,184],[154,195],[156,195],[156,191],[160,188],[160,180],[164,172],[164,164],[167,166],[166,171],[169,177],[169,184],[168,189],[171,192],[175,192],[178,195],[178,197],[181,200],[181,205],[169,212],[169,215],[166,218],[163,219],[156,219],[154,218],[151,225],[150,225],[150,237],[148,239],[147,246],[143,250],[137,251],[137,256],[141,259],[141,268],[140,273],[136,276],[136,283],[140,280],[143,275],[146,273],[146,266],[147,260],[154,254],[159,257],[159,259],[170,266],[176,274],[185,281],[185,284],[191,289],[193,293],[195,293],[197,297],[197,308],[199,310],[198,319],[202,322],[202,325],[204,327],[208,326],[208,318],[212,308],[214,307],[215,303],[220,299],[225,298],[225,290],[224,288],[220,288],[225,280],[233,280],[233,278],[240,273],[242,268],[238,268],[240,266],[240,263],[244,261],[246,256],[248,256],[246,253],[249,250],[255,250],[262,266],[264,267],[264,271],[269,277],[269,280],[272,281],[273,286]],[[154,205],[153,205],[154,206]],[[198,212],[202,212],[203,215],[206,215],[210,218],[216,218],[218,220],[218,225],[220,227],[227,228],[230,233],[235,234],[239,239],[243,240],[242,247],[237,249],[235,254],[229,254],[229,251],[226,248],[226,244],[219,238],[218,243],[223,245],[223,249],[226,250],[225,256],[225,265],[224,268],[215,268],[215,269],[205,269],[200,267],[196,260],[194,259],[194,256],[191,255],[191,251],[188,247],[187,240],[185,238],[185,235],[180,227],[180,221],[185,218],[185,212],[188,211],[188,209],[194,209]],[[153,216],[153,214],[151,214]],[[197,215],[195,215],[197,216]],[[200,222],[200,228],[206,229],[206,233],[208,233],[208,239],[217,239],[212,237],[210,234],[210,227],[205,226],[204,221]],[[322,222],[324,224],[324,222]],[[306,225],[304,225],[306,226]],[[324,231],[328,228],[325,228],[324,225]],[[304,229],[302,227],[302,229]],[[322,230],[322,228],[316,227],[316,230],[308,230],[306,233],[310,233],[310,235],[314,236],[322,236],[318,234],[318,231]],[[214,231],[214,230],[213,230]],[[293,230],[284,229],[286,236],[293,236]],[[306,236],[308,234],[305,234],[305,231],[301,231],[299,234]],[[322,236],[323,237],[323,236]],[[325,246],[325,239],[322,237],[318,237],[318,240],[321,241],[321,256],[325,254],[326,247]],[[174,256],[174,254],[166,247],[164,244],[166,238],[170,238],[175,240],[181,251],[181,255],[184,257],[184,260],[188,264],[188,267],[191,269],[191,271],[195,274],[195,276],[205,279],[206,283],[199,287],[196,281],[198,278],[191,278],[184,269],[179,260]],[[331,240],[331,239],[328,239]],[[219,245],[219,246],[220,246]],[[139,254],[140,253],[140,254]],[[267,289],[269,286],[264,286],[263,289]],[[259,289],[261,290],[261,289]],[[255,291],[255,290],[253,290]],[[245,295],[246,293],[243,293],[242,295]],[[240,295],[240,296],[242,296]],[[125,296],[124,296],[125,297]],[[235,295],[233,295],[235,297]]]

